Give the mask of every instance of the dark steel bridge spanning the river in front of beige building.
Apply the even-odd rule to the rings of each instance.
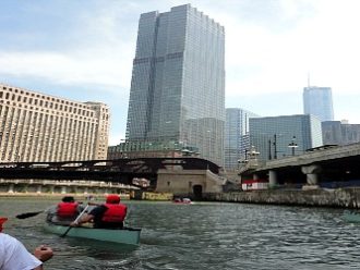
[[[0,179],[25,180],[88,180],[133,184],[133,179],[147,179],[156,185],[160,169],[209,170],[219,173],[219,167],[212,161],[182,158],[134,158],[115,160],[79,160],[60,162],[2,162]]]

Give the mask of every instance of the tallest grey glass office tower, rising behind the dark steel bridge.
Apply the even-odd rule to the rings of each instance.
[[[223,165],[224,27],[190,4],[140,17],[127,140],[193,147]]]

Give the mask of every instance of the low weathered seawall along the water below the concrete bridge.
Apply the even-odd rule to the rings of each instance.
[[[360,208],[360,187],[337,189],[266,189],[203,194],[203,200],[315,207]]]

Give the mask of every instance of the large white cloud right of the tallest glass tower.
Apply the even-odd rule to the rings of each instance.
[[[299,91],[309,72],[314,85],[358,91],[360,38],[353,33],[360,3],[345,2],[276,1],[279,7],[273,8],[273,15],[279,19],[269,24],[220,14],[226,27],[227,97]],[[291,27],[286,24],[292,21]]]

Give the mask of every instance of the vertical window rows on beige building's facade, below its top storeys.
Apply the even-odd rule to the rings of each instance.
[[[14,108],[8,107],[0,107],[0,120],[2,161],[15,160],[17,157],[24,161],[87,157],[98,128],[94,123],[32,111],[16,112]],[[105,158],[104,147],[98,150]]]

